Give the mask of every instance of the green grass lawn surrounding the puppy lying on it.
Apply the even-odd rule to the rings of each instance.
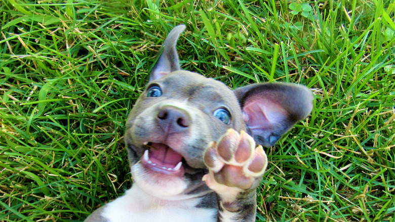
[[[126,117],[181,23],[183,69],[315,94],[266,149],[257,221],[393,221],[390,0],[54,2],[0,4],[0,221],[82,221],[131,186]]]

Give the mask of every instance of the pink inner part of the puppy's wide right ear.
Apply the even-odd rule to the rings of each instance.
[[[281,124],[288,112],[279,103],[267,98],[250,98],[243,108],[244,121],[251,129],[269,129]]]

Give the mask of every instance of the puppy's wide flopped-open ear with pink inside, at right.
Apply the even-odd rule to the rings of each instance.
[[[234,90],[248,133],[263,146],[272,146],[311,112],[313,95],[296,84],[263,83]]]

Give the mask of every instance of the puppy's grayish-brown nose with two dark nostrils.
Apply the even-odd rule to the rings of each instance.
[[[179,133],[188,129],[191,118],[186,110],[174,106],[162,106],[157,113],[159,126],[168,133]]]

